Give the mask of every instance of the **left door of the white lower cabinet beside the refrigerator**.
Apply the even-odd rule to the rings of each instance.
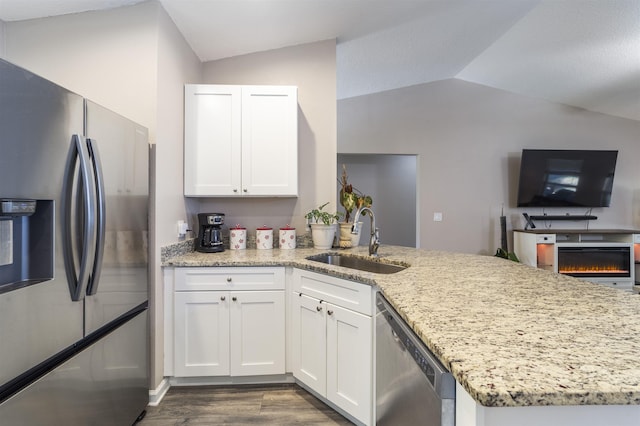
[[[229,374],[229,293],[174,295],[176,377]]]

